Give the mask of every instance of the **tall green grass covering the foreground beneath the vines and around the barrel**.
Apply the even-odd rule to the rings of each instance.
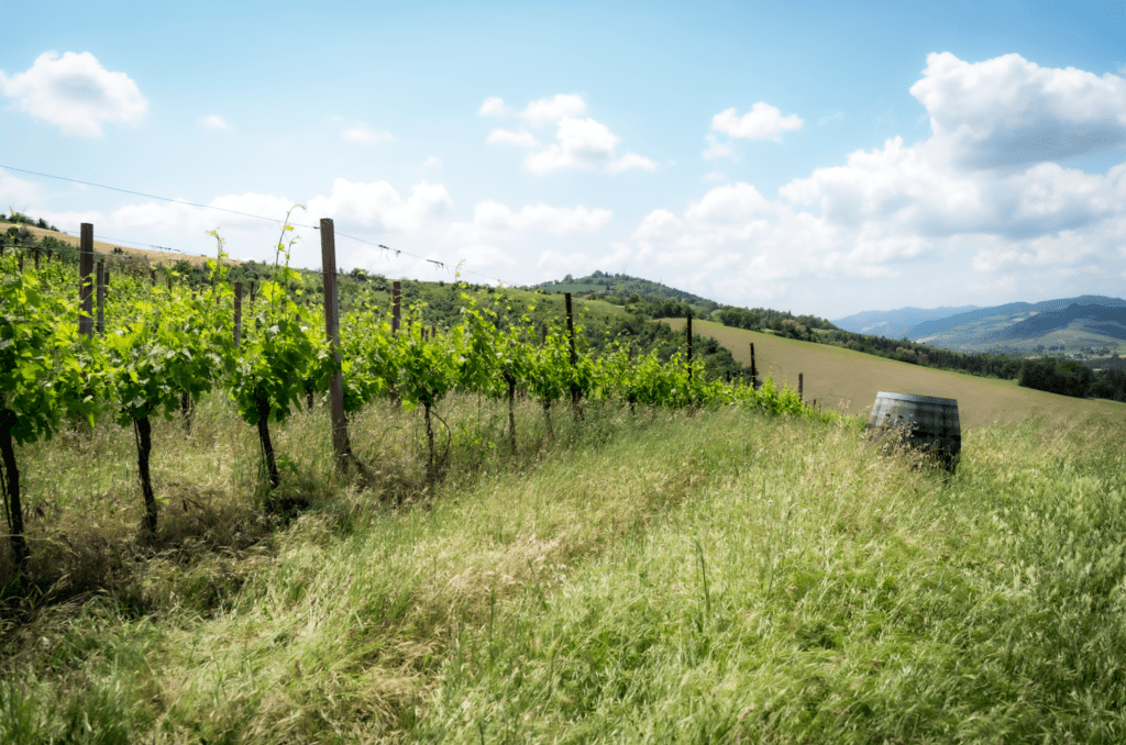
[[[254,433],[204,402],[155,433],[159,493],[199,506],[148,550],[128,432],[21,451],[29,495],[62,479],[41,554],[135,556],[8,616],[0,742],[1126,737],[1120,422],[974,429],[949,477],[849,420],[592,405],[552,442],[525,404],[509,456],[502,407],[446,414],[431,491],[415,415],[357,418],[360,491],[302,413],[278,448],[310,506],[261,524]]]

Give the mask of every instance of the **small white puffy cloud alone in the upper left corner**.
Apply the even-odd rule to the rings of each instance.
[[[68,134],[100,137],[108,122],[135,122],[149,102],[124,72],[109,72],[89,52],[44,52],[30,70],[11,78],[0,71],[0,93],[21,110]]]

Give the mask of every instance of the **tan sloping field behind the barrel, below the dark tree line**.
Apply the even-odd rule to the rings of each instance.
[[[685,326],[682,318],[669,318],[665,323],[678,330]],[[1126,421],[1126,404],[1021,388],[1016,380],[936,370],[840,347],[732,329],[711,321],[694,320],[692,331],[714,338],[743,365],[751,363],[750,344],[753,343],[760,377],[770,375],[775,382],[796,388],[798,374],[804,374],[807,401],[816,400],[823,409],[847,414],[867,415],[876,394],[886,391],[956,398],[964,429],[1019,422],[1033,414],[1048,421],[1073,422],[1092,414]]]

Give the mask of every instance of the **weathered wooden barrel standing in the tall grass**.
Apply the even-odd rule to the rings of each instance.
[[[901,431],[908,446],[935,455],[951,472],[957,467],[962,423],[955,398],[881,391],[872,405],[867,429],[877,439]]]

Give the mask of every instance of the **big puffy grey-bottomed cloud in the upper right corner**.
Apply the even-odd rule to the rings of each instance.
[[[1040,68],[1019,54],[971,63],[932,53],[911,95],[927,107],[936,152],[963,168],[1062,160],[1126,142],[1126,79],[1110,73]]]

